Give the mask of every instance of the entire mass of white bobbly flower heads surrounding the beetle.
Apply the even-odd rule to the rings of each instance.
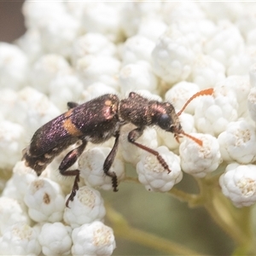
[[[223,162],[224,195],[236,207],[256,202],[255,4],[26,1],[22,11],[26,33],[15,44],[0,43],[0,164],[13,170],[8,182],[0,176],[1,253],[113,253],[113,230],[103,224],[96,190],[112,189],[102,172],[112,139],[89,143],[73,166],[81,178],[69,208],[73,178],[57,169],[70,148],[40,177],[19,161],[34,131],[66,111],[66,102],[106,93],[125,98],[137,91],[178,111],[212,87],[212,96],[196,97],[180,115],[183,131],[202,146],[188,137],[179,146],[171,132],[146,127],[137,143],[154,149],[149,154],[128,143],[135,128],[128,124],[110,171],[121,181],[129,162],[146,189],[163,192],[183,172],[206,177]]]

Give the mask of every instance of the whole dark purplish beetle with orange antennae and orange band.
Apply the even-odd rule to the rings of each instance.
[[[167,172],[171,172],[160,154],[153,148],[137,143],[137,138],[142,136],[147,126],[158,125],[161,129],[172,132],[177,141],[179,137],[185,135],[202,145],[201,140],[183,131],[178,116],[195,97],[212,95],[212,92],[212,88],[199,91],[190,97],[178,113],[170,102],[150,101],[135,92],[131,92],[122,100],[119,100],[116,95],[106,94],[81,105],[76,102],[67,102],[66,113],[50,120],[34,133],[30,145],[22,151],[22,160],[25,160],[25,165],[31,167],[40,176],[55,156],[61,154],[70,145],[80,142],[77,148],[64,157],[59,166],[61,175],[75,177],[72,192],[66,202],[68,207],[68,202],[73,201],[79,189],[79,170],[68,170],[68,168],[78,160],[88,142],[103,143],[114,137],[113,148],[104,161],[103,171],[112,178],[113,191],[117,191],[117,176],[115,172],[109,172],[109,169],[118,149],[120,128],[131,123],[137,128],[129,132],[128,142],[154,154],[161,166]]]

